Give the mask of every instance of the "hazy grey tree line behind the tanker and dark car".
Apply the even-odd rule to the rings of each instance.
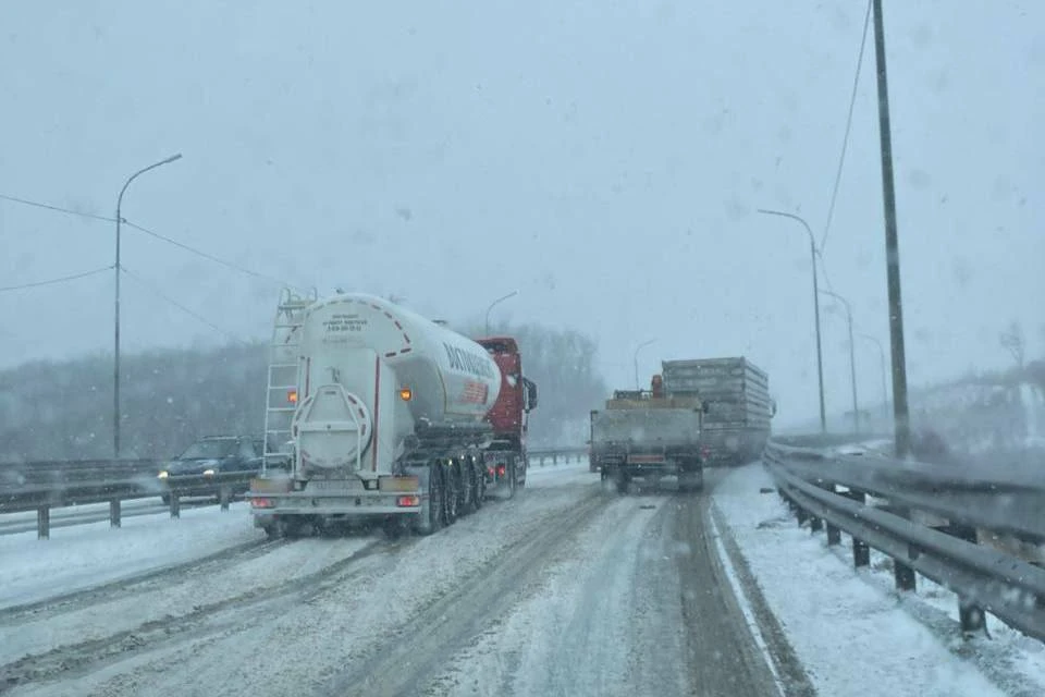
[[[539,325],[499,332],[518,339],[524,371],[538,384],[531,445],[583,442],[588,412],[605,394],[595,342]],[[263,342],[124,356],[122,456],[172,457],[202,436],[260,435],[267,365]],[[0,370],[0,462],[111,456],[112,368],[101,354]]]

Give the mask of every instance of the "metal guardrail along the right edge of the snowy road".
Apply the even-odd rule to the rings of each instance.
[[[814,531],[826,525],[828,545],[840,543],[843,530],[852,537],[855,566],[866,566],[874,548],[893,559],[899,590],[913,590],[918,572],[956,592],[963,632],[982,629],[986,611],[1045,640],[1045,570],[976,541],[978,530],[1045,539],[1045,477],[778,441],[766,445],[763,462],[800,524],[809,521]]]

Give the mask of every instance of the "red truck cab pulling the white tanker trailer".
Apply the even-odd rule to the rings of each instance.
[[[501,369],[501,392],[487,413],[493,443],[487,451],[487,482],[507,485],[509,493],[526,485],[526,432],[529,413],[537,407],[537,386],[522,377],[519,345],[511,337],[475,340]]]

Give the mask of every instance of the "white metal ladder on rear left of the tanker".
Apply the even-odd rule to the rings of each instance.
[[[298,400],[298,358],[305,310],[316,302],[316,291],[298,295],[290,289],[280,293],[269,344],[269,377],[265,396],[265,458],[262,473],[274,464],[287,463],[292,453],[291,420]]]

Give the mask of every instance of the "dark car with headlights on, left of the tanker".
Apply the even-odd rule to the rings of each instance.
[[[159,478],[167,491],[179,497],[218,497],[222,487],[230,496],[250,488],[250,477],[260,473],[263,442],[246,436],[208,436],[196,441],[181,455],[167,463]]]

